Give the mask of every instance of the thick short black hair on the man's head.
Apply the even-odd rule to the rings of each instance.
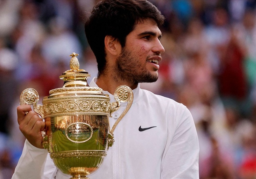
[[[146,19],[153,19],[158,26],[164,22],[161,12],[146,0],[103,0],[94,6],[85,23],[85,33],[97,59],[99,75],[106,65],[105,36],[112,36],[124,48],[126,36]]]

